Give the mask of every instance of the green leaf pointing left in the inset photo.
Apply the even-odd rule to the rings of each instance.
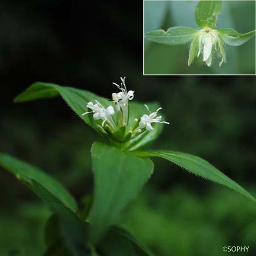
[[[172,27],[167,31],[160,29],[145,33],[145,39],[163,45],[182,45],[190,42],[197,32],[198,30],[188,27]]]

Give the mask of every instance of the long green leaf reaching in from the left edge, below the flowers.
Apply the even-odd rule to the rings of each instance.
[[[37,181],[72,211],[77,210],[76,201],[69,191],[39,168],[2,153],[0,153],[0,166],[15,175],[17,179],[24,181],[30,188],[31,180]]]

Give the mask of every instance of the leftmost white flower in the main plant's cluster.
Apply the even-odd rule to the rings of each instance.
[[[114,121],[111,116],[115,114],[113,106],[108,106],[108,108],[104,108],[97,100],[95,100],[96,104],[93,104],[93,102],[88,102],[87,108],[91,109],[90,112],[85,112],[82,114],[82,116],[93,113],[93,119],[94,120],[102,120],[102,126],[106,121],[110,121],[112,124],[114,124]],[[114,125],[115,126],[115,125]]]

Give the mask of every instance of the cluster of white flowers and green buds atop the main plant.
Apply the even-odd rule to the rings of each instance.
[[[115,104],[115,109],[112,105],[104,108],[104,106],[97,100],[95,103],[88,102],[88,111],[83,113],[84,115],[91,115],[95,122],[95,126],[98,130],[104,134],[111,137],[113,140],[124,142],[129,139],[133,139],[143,132],[150,132],[154,130],[152,126],[153,123],[165,123],[168,122],[161,121],[162,117],[158,116],[158,112],[162,109],[159,108],[155,112],[151,112],[147,105],[145,108],[149,112],[148,115],[144,114],[140,118],[135,118],[129,125],[129,101],[134,98],[134,91],[127,91],[125,85],[125,77],[120,77],[120,85],[113,83],[120,92],[112,94],[112,101]],[[116,119],[115,119],[116,110]],[[101,120],[101,123],[97,123]]]

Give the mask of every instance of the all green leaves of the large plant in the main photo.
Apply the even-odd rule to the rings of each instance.
[[[127,94],[127,92],[125,93]],[[104,143],[94,143],[91,150],[94,195],[89,214],[83,216],[79,211],[76,211],[75,200],[68,191],[41,170],[4,154],[0,158],[0,165],[24,181],[57,216],[51,217],[52,219],[48,221],[46,228],[48,248],[45,255],[57,255],[60,251],[61,253],[67,251],[71,255],[115,255],[115,253],[118,255],[120,250],[123,255],[153,255],[149,249],[127,231],[113,227],[118,223],[123,208],[138,194],[144,183],[151,177],[153,164],[148,157],[167,159],[191,173],[232,188],[255,202],[255,199],[240,185],[201,158],[174,151],[143,151],[146,145],[158,138],[161,132],[161,128],[158,128],[161,127],[160,123],[166,123],[160,121],[161,118],[157,116],[160,108],[150,115],[143,115],[142,117],[147,120],[146,124],[143,124],[144,119],[142,117],[140,122],[137,120],[143,113],[143,104],[129,103],[131,115],[127,115],[127,122],[122,120],[122,125],[115,127],[116,130],[113,131],[108,130],[108,118],[105,119],[104,116],[101,123],[95,116],[96,111],[94,111],[93,117],[90,116],[92,115],[91,112],[86,112],[86,115],[82,116],[84,106],[87,105],[88,108],[90,106],[91,101],[89,100],[96,99],[102,102],[100,111],[103,111],[103,114],[109,108],[107,105],[111,104],[107,99],[87,91],[60,87],[55,84],[35,83],[16,97],[15,102],[48,98],[58,94],[104,140]],[[115,99],[114,96],[113,99]],[[113,118],[118,124],[119,117],[124,117],[125,109],[120,101],[115,103],[118,111],[115,115],[113,113]],[[125,106],[127,105],[125,104]],[[148,119],[151,116],[152,119]],[[134,122],[134,120],[137,121]],[[154,127],[148,120],[156,122]],[[120,129],[123,131],[123,137],[116,137]],[[134,131],[136,132],[134,133]],[[129,139],[126,139],[126,133],[134,134],[134,137],[130,136]],[[70,204],[73,206],[70,207]],[[52,235],[52,230],[54,232],[57,230],[57,233]],[[103,243],[102,241],[107,242]]]

